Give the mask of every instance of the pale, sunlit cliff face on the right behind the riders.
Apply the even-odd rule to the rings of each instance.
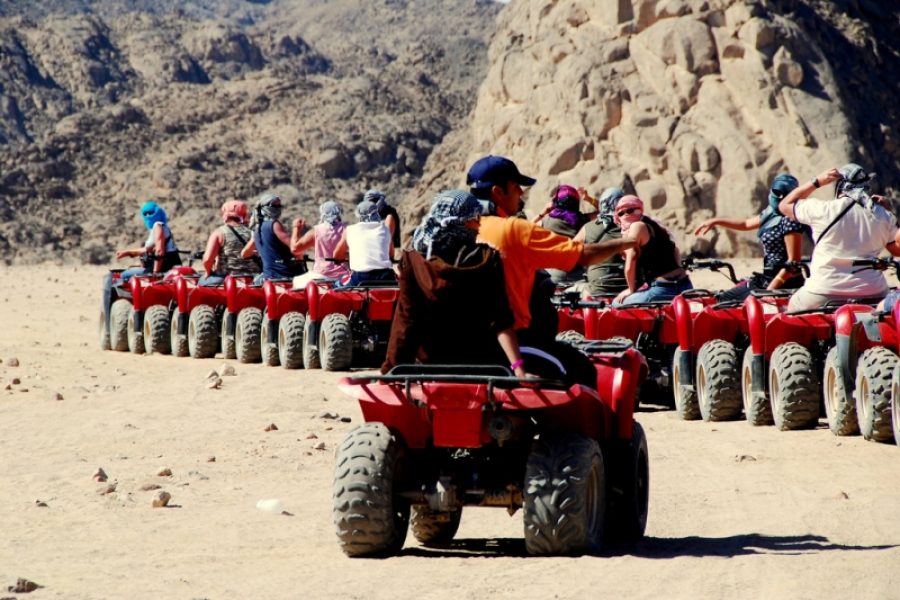
[[[751,216],[782,171],[802,180],[852,160],[900,187],[900,9],[884,6],[513,2],[468,131],[433,155],[425,185],[460,185],[475,158],[504,154],[538,178],[532,210],[557,183],[621,185],[685,249],[752,253],[749,236],[688,232]]]

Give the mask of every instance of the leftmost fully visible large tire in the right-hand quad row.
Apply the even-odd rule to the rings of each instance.
[[[741,416],[741,366],[737,348],[725,340],[710,340],[697,354],[695,385],[704,421],[733,421]]]

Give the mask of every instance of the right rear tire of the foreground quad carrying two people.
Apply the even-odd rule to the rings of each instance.
[[[597,442],[576,434],[533,442],[525,467],[525,549],[535,555],[599,550],[606,476]]]

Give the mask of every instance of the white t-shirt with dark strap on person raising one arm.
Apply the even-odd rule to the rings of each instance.
[[[806,198],[794,205],[794,215],[800,223],[812,227],[813,240],[819,240],[822,231],[834,221],[851,202],[850,198],[817,200]],[[855,204],[813,249],[809,265],[810,276],[803,289],[816,294],[842,294],[864,298],[881,296],[887,292],[887,281],[880,271],[859,270],[854,259],[875,258],[884,251],[888,242],[894,241],[897,219],[884,207],[876,205],[874,211]],[[858,272],[854,272],[858,271]]]

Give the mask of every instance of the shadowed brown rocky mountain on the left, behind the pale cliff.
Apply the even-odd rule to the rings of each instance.
[[[269,189],[308,219],[399,200],[470,112],[501,7],[0,2],[0,257],[106,262],[148,198],[183,248]]]

